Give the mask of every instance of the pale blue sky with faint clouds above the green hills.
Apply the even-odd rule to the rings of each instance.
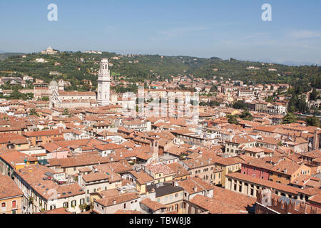
[[[58,21],[47,19],[51,3]],[[266,3],[272,21],[261,19]],[[321,63],[320,9],[319,0],[2,0],[0,50]]]

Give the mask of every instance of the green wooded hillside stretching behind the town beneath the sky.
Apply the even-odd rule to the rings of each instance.
[[[17,56],[20,55],[20,56]],[[44,58],[46,63],[36,63],[36,58]],[[134,55],[121,56],[116,53],[103,52],[102,55],[62,52],[56,56],[30,53],[26,58],[21,53],[0,54],[0,71],[14,71],[16,76],[25,74],[34,78],[41,78],[50,82],[53,78],[63,78],[71,81],[73,85],[80,84],[83,79],[89,79],[96,86],[97,76],[92,73],[98,71],[101,58],[109,58],[111,73],[116,78],[123,76],[130,82],[143,82],[146,79],[163,81],[171,76],[193,75],[194,78],[225,80],[242,80],[248,84],[255,83],[290,83],[301,80],[301,83],[316,83],[319,85],[321,67],[317,66],[285,66],[250,61],[238,61],[233,58],[222,60],[220,58],[196,58],[190,56],[158,56]],[[55,63],[61,63],[55,66]],[[256,69],[248,69],[253,67]],[[272,71],[269,69],[275,69]],[[62,76],[49,76],[50,71],[58,71]],[[0,76],[6,76],[0,73]],[[317,86],[318,88],[319,86]]]

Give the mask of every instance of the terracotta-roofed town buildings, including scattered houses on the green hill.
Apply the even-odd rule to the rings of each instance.
[[[52,81],[0,78],[4,96],[16,93],[10,85],[34,94],[0,100],[1,212],[320,214],[321,129],[284,123],[291,97],[278,92],[290,85],[190,75],[131,82],[111,76],[107,58],[94,63],[97,90],[50,68]]]

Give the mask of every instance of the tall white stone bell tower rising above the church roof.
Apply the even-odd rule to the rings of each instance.
[[[109,93],[111,86],[111,73],[108,70],[108,59],[103,58],[101,60],[101,69],[98,74],[98,93],[97,101],[98,105],[109,105]]]

